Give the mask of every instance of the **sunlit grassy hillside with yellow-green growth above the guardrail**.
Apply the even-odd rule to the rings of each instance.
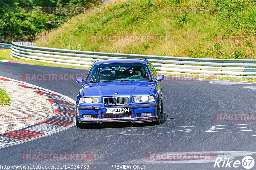
[[[256,59],[255,23],[255,0],[117,1],[42,33],[36,45],[111,53]]]

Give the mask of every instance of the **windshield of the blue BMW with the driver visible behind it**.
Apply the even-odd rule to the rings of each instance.
[[[104,81],[153,81],[146,64],[113,63],[94,65],[85,83]]]

